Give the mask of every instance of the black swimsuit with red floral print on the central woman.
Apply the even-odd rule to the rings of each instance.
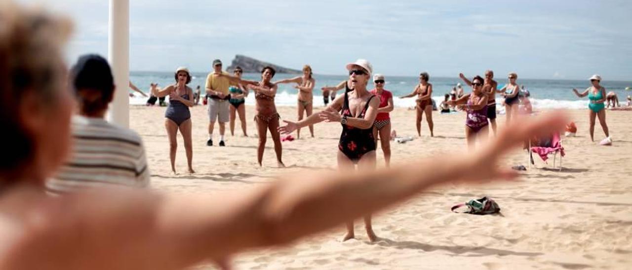
[[[363,118],[367,114],[368,103],[371,102],[372,95],[367,100],[364,110],[358,116],[351,114],[349,110],[348,93],[344,93],[343,116]],[[373,125],[368,129],[360,129],[343,124],[343,132],[340,134],[338,149],[343,152],[353,163],[358,163],[362,156],[370,151],[375,151],[375,138],[373,137]]]

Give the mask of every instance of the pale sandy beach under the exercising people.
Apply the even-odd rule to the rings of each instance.
[[[279,107],[282,119],[295,120],[295,107]],[[322,108],[316,108],[319,111]],[[318,173],[336,170],[341,127],[315,126],[316,138],[283,143],[283,161],[277,168],[269,139],[264,167],[257,165],[254,108],[246,109],[249,138],[236,136],[227,125],[226,147],[205,145],[208,117],[205,106],[191,109],[193,119],[193,168],[185,173],[186,158],[178,137],[176,166],[169,166],[169,145],[164,130],[164,107],[130,106],[131,128],[143,138],[152,174],[152,188],[183,194],[217,194],[247,189],[269,182],[277,175],[303,170]],[[595,143],[588,134],[587,110],[569,111],[578,136],[564,138],[566,156],[561,172],[537,156],[536,166],[513,183],[483,186],[444,186],[427,191],[374,218],[380,239],[371,244],[356,222],[356,239],[341,242],[344,226],[305,238],[280,249],[252,250],[233,258],[236,269],[629,269],[632,266],[632,125],[630,112],[607,112],[612,146],[599,146],[604,138],[599,123]],[[434,112],[435,137],[422,122],[416,138],[413,111],[397,108],[391,113],[399,136],[414,141],[392,144],[392,163],[414,162],[435,155],[459,155],[466,150],[465,114]],[[504,126],[504,115],[497,122]],[[219,141],[216,127],[215,141]],[[378,150],[378,167],[384,167]],[[507,166],[527,166],[525,151],[516,150]],[[432,170],[432,168],[428,168]],[[475,197],[490,196],[501,214],[475,216],[451,213],[450,207]],[[218,206],[221,207],[221,206]],[[183,209],[186,211],[186,209]],[[195,269],[212,269],[212,264]]]

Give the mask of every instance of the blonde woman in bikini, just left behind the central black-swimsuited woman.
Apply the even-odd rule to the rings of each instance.
[[[307,114],[307,117],[312,115],[313,110],[313,88],[316,81],[312,78],[312,67],[309,65],[303,66],[303,76],[298,76],[291,79],[282,79],[281,81],[275,81],[274,84],[279,83],[296,83],[294,88],[298,89],[298,120],[303,120],[303,113]],[[314,138],[314,126],[310,125],[310,134]],[[296,139],[301,138],[301,129],[296,129]]]

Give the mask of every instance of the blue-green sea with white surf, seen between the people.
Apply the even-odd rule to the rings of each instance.
[[[202,95],[205,95],[205,82],[207,73],[192,73],[193,79],[189,86],[195,88],[200,86]],[[276,74],[272,81],[279,79],[292,78],[295,74]],[[260,80],[261,74],[244,74],[243,79]],[[314,87],[314,99],[315,106],[322,106],[323,98],[322,91],[323,86],[336,86],[341,81],[348,79],[348,76],[341,75],[319,75],[315,74],[314,79],[316,85]],[[504,77],[495,78],[498,82],[498,88],[502,88],[507,83],[507,79]],[[174,83],[173,73],[167,72],[131,72],[130,81],[138,86],[145,93],[149,93],[149,84],[158,83],[159,86],[166,86]],[[415,98],[398,98],[403,95],[412,93],[415,86],[419,83],[417,77],[404,77],[404,76],[386,76],[386,86],[384,88],[393,93],[393,102],[396,107],[412,107],[415,105]],[[430,83],[433,86],[432,98],[437,101],[437,104],[441,103],[444,99],[444,95],[449,93],[457,83],[463,84],[463,81],[459,78],[433,78],[430,77]],[[531,94],[530,100],[535,110],[541,109],[585,109],[588,106],[588,98],[578,98],[573,93],[573,88],[577,88],[578,91],[583,91],[590,86],[590,81],[586,80],[562,80],[562,79],[520,79],[517,81],[518,85],[524,85],[525,89]],[[298,90],[293,86],[295,84],[279,85],[279,89],[276,95],[277,106],[296,106],[296,97]],[[632,81],[602,81],[602,86],[609,91],[614,91],[619,97],[619,103],[624,104],[626,97],[632,95],[632,91],[626,91],[625,88],[632,86]],[[370,82],[367,86],[368,89],[373,89],[373,83]],[[470,86],[463,84],[465,93],[471,91]],[[134,94],[134,97],[130,98],[130,104],[132,105],[144,105],[147,102],[147,98],[142,97],[140,94],[130,90],[130,93]],[[344,93],[344,89],[337,92],[338,95]],[[248,95],[246,98],[247,105],[254,105],[254,95]],[[168,98],[167,98],[168,100]],[[500,95],[496,95],[497,102],[501,101]]]

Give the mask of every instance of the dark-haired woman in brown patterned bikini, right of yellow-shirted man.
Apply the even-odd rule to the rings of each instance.
[[[274,152],[277,155],[277,163],[279,167],[285,167],[281,161],[281,136],[279,136],[279,113],[274,105],[274,97],[276,96],[277,86],[270,82],[276,71],[270,66],[266,66],[261,71],[261,81],[248,81],[234,76],[221,74],[235,83],[242,83],[246,88],[255,92],[255,122],[257,122],[257,132],[259,134],[259,145],[257,148],[257,161],[262,166],[264,158],[265,141],[267,141],[267,132],[270,130],[270,136],[274,141]]]

